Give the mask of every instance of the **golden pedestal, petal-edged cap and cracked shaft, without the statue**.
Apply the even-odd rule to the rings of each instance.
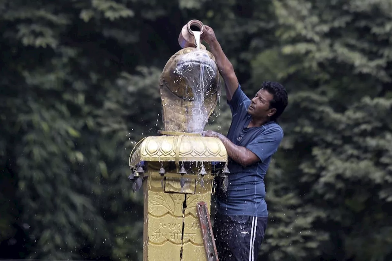
[[[134,173],[143,168],[134,178],[143,180],[143,261],[207,261],[196,204],[207,203],[211,212],[211,162],[227,162],[223,143],[200,136],[150,136],[135,148],[130,166]],[[179,173],[180,162],[187,174]]]

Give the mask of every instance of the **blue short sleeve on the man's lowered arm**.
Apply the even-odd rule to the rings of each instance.
[[[256,154],[263,162],[278,150],[282,138],[283,130],[279,126],[270,127],[252,140],[246,148]]]

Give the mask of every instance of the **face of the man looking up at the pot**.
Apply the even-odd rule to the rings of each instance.
[[[271,117],[276,112],[276,109],[269,109],[270,101],[272,101],[273,98],[274,96],[267,90],[261,89],[251,100],[248,107],[248,113],[255,118],[260,119]]]

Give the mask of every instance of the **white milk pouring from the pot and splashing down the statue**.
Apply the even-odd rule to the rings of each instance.
[[[200,49],[200,31],[192,31],[192,33],[197,50],[183,54],[174,72],[185,80],[186,93],[189,93],[188,88],[192,90],[193,97],[186,97],[192,101],[192,109],[188,114],[188,132],[199,133],[203,131],[208,120],[209,110],[204,105],[205,94],[214,84],[217,68],[207,52]]]

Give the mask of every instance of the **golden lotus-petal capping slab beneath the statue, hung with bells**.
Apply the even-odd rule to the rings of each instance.
[[[218,138],[203,136],[149,136],[131,153],[129,165],[140,161],[227,161],[227,151]]]

